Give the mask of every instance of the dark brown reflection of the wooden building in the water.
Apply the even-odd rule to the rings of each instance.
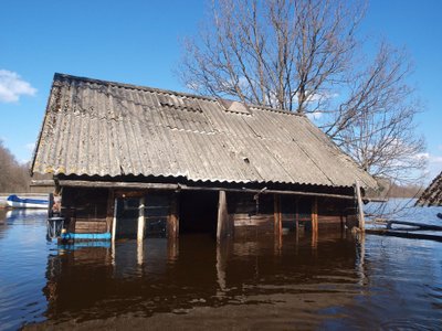
[[[56,321],[128,312],[150,317],[196,306],[272,303],[275,293],[351,292],[358,282],[352,241],[330,238],[312,248],[309,238],[296,244],[287,236],[280,249],[273,237],[217,245],[204,235],[181,236],[179,244],[149,238],[116,242],[115,248],[60,249],[48,261],[45,316]]]

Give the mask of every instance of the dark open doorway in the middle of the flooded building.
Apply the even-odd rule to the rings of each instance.
[[[218,192],[180,193],[180,233],[217,233]]]

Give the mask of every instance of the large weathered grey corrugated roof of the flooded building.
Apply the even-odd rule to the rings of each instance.
[[[32,170],[332,186],[359,180],[376,186],[305,116],[225,104],[55,74]]]

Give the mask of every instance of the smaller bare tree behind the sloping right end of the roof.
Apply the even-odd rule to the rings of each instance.
[[[381,43],[372,63],[352,73],[347,99],[323,124],[365,170],[402,185],[415,181],[427,163],[414,124],[422,107],[406,82],[409,72],[407,54]]]

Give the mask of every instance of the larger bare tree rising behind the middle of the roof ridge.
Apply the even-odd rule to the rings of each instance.
[[[328,0],[221,0],[212,10],[208,28],[186,43],[185,83],[299,113],[314,111],[344,78],[361,15]]]

